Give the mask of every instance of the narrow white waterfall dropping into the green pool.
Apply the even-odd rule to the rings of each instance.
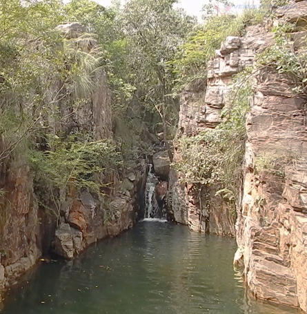
[[[156,186],[159,184],[159,179],[155,176],[152,170],[152,164],[149,164],[148,175],[145,185],[145,220],[159,220],[166,221],[166,210],[164,206],[159,206],[156,197]]]

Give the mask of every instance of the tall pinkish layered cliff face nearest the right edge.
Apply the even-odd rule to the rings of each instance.
[[[297,7],[307,8],[307,1]],[[296,23],[304,10],[278,9],[277,15]],[[302,36],[291,34],[293,51],[306,48]],[[307,99],[293,92],[293,77],[272,68],[259,70],[253,85],[236,259],[244,261],[246,282],[257,297],[307,311]],[[277,168],[263,166],[273,161]]]

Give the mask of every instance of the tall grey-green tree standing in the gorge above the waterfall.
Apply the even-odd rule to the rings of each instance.
[[[176,2],[131,0],[119,17],[126,34],[128,80],[132,86],[137,86],[138,101],[159,112],[167,147],[168,114],[177,110],[177,104],[170,96],[174,82],[167,63],[196,23],[183,10],[173,8]],[[168,151],[172,158],[169,147]]]

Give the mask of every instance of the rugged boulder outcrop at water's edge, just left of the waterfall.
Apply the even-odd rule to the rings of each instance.
[[[120,190],[108,205],[95,199],[88,191],[80,193],[79,199],[73,200],[66,213],[62,213],[62,222],[55,231],[55,253],[72,259],[99,239],[114,237],[132,228],[136,219],[135,184]]]

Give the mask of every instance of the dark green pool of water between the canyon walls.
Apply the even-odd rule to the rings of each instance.
[[[256,302],[232,270],[234,239],[143,222],[73,262],[44,264],[1,314],[286,314]]]

